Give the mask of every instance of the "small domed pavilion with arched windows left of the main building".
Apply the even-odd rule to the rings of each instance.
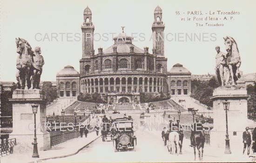
[[[80,74],[74,67],[67,65],[56,75],[56,87],[59,97],[80,95]]]

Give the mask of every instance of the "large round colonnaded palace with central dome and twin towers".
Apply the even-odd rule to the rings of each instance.
[[[162,10],[155,9],[155,19],[152,25],[153,33],[163,35]],[[153,41],[153,53],[148,47],[140,49],[132,44],[132,37],[122,32],[114,38],[114,45],[107,49],[93,49],[92,39],[88,33],[93,33],[92,12],[87,7],[84,12],[84,22],[81,26],[83,33],[83,54],[80,60],[81,93],[115,94],[115,99],[127,94],[167,92],[164,86],[167,75],[167,58],[164,57],[164,40]],[[131,95],[131,96],[130,96]],[[114,97],[114,95],[113,95]],[[138,101],[139,99],[136,98]],[[118,101],[118,100],[117,100]]]

